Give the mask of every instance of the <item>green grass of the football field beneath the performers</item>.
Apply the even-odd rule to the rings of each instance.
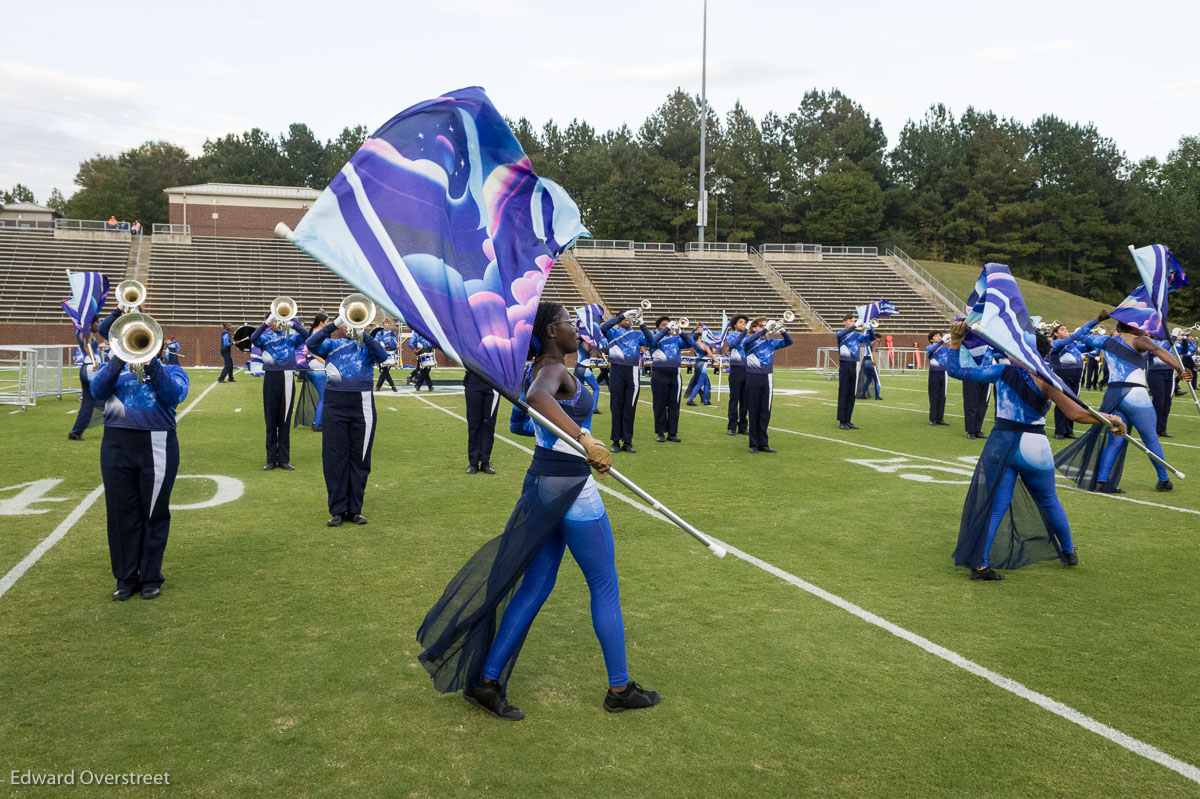
[[[193,372],[192,398],[215,377]],[[1174,771],[607,495],[630,669],[662,704],[600,708],[587,587],[566,558],[510,684],[527,719],[494,721],[433,691],[414,633],[503,528],[528,455],[498,440],[498,474],[468,476],[461,421],[425,395],[379,395],[371,523],[331,530],[320,434],[294,432],[295,471],[260,470],[259,385],[215,386],[180,422],[180,471],[235,476],[245,494],[174,513],[160,600],[109,601],[103,499],[0,596],[0,795],[37,795],[8,785],[25,769],[169,771],[180,797],[1196,795]],[[790,372],[776,386],[811,392],[776,396],[773,425],[794,431],[772,434],[778,455],[750,456],[724,419],[686,413],[724,407],[685,408],[684,443],[656,445],[642,405],[638,452],[618,468],[751,555],[1200,762],[1195,513],[1063,491],[1080,566],[971,583],[949,558],[966,486],[850,462],[901,457],[851,444],[978,455],[953,415],[958,392],[953,426],[931,428],[924,377],[884,378],[884,401],[859,402],[862,429],[842,432],[834,383]],[[430,402],[463,411],[460,395]],[[0,486],[61,479],[50,495],[66,498],[5,519],[0,575],[100,482],[101,431],[67,441],[71,408],[0,413]],[[506,417],[502,403],[502,429]],[[1200,416],[1177,402],[1171,429],[1190,446]],[[1200,449],[1166,450],[1200,474]],[[1130,499],[1200,510],[1194,480],[1157,494],[1141,457],[1123,485]],[[210,493],[181,480],[175,501]]]

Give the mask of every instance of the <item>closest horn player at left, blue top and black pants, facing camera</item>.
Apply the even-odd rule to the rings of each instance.
[[[100,471],[116,601],[134,591],[142,599],[161,593],[170,492],[179,471],[175,407],[187,396],[187,372],[154,358],[144,376],[143,380],[114,355],[91,380],[92,397],[104,403]]]

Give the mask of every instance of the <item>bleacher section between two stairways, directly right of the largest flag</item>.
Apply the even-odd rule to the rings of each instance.
[[[576,251],[575,257],[611,313],[649,300],[653,308],[646,314],[648,322],[662,314],[688,317],[692,324],[703,322],[719,332],[722,311],[731,317],[745,313],[779,319],[790,308],[744,256],[697,258],[643,251],[607,256]],[[797,318],[788,330],[798,332],[809,326]]]

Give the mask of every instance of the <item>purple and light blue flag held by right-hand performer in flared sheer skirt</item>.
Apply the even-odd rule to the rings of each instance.
[[[1014,364],[1025,367],[1037,377],[1069,397],[1075,394],[1055,374],[1038,353],[1037,329],[1030,319],[1025,298],[1016,286],[1016,278],[1003,264],[983,268],[976,290],[971,293],[971,310],[966,323],[979,338],[1000,350]]]

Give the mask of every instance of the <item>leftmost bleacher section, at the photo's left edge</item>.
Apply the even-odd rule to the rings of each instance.
[[[66,270],[101,272],[115,290],[128,258],[128,241],[55,239],[53,230],[0,229],[0,322],[70,324],[59,305],[71,296]],[[106,310],[113,307],[110,299]]]

